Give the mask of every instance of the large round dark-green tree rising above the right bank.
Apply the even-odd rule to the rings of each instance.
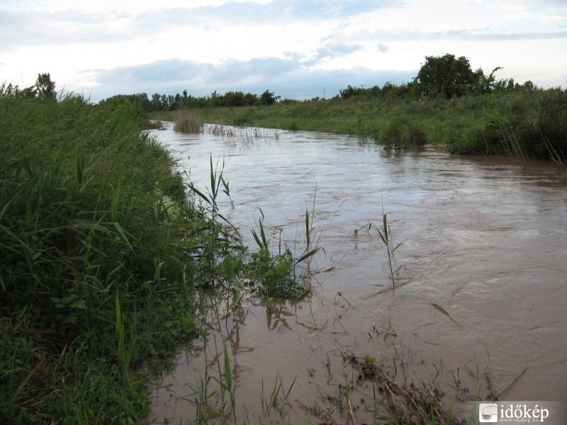
[[[444,56],[426,56],[414,81],[424,94],[441,94],[450,98],[466,94],[478,82],[479,77],[478,72],[471,69],[466,57],[456,58],[447,53]]]

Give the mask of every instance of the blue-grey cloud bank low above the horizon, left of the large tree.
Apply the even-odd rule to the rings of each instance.
[[[176,94],[187,89],[193,96],[208,96],[213,91],[245,91],[261,94],[274,91],[283,98],[335,96],[347,85],[383,86],[411,81],[417,70],[376,71],[365,67],[323,70],[306,69],[297,59],[263,57],[253,60],[226,60],[220,64],[191,60],[159,60],[133,67],[95,70],[99,86],[91,90],[91,101],[114,94]],[[124,92],[128,87],[128,93]]]

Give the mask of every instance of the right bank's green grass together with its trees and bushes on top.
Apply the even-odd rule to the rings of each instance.
[[[293,101],[270,91],[262,96],[215,91],[202,98],[184,91],[172,98],[184,107],[201,108],[208,123],[356,135],[385,149],[432,144],[451,154],[551,157],[562,164],[567,154],[566,91],[540,89],[532,81],[498,80],[500,69],[487,76],[481,68],[473,71],[466,57],[447,54],[425,57],[408,84],[349,85],[328,99]],[[167,111],[179,108],[165,95],[152,102],[145,94],[130,97],[133,102],[142,98],[137,104],[154,118],[173,120]]]

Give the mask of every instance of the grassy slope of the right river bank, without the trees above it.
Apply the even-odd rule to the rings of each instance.
[[[202,112],[206,123],[356,135],[393,149],[432,144],[454,154],[567,155],[567,93],[561,89],[451,99],[337,96]]]

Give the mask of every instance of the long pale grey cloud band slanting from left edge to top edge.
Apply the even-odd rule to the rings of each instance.
[[[244,26],[287,24],[296,21],[345,18],[376,8],[400,6],[403,6],[403,3],[395,0],[275,0],[268,4],[230,1],[220,6],[155,9],[137,16],[116,11],[100,14],[82,13],[77,10],[54,13],[0,11],[0,37],[4,40],[4,50],[7,47],[23,45],[116,42],[136,36],[147,37],[162,33],[164,30],[186,26],[214,27],[227,23]],[[120,18],[131,20],[126,33],[109,32],[106,25],[108,21]]]

